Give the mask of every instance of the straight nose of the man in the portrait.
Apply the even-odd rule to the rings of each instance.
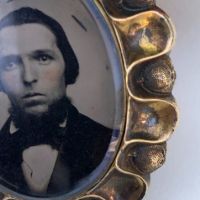
[[[23,59],[23,82],[26,85],[31,85],[37,82],[37,72],[33,63],[29,59]]]

